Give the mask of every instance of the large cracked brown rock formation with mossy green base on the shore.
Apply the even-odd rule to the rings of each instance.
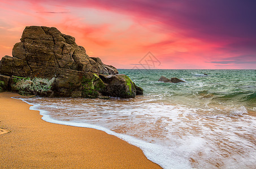
[[[12,56],[2,57],[0,90],[49,97],[134,97],[142,94],[127,75],[89,57],[75,38],[56,28],[27,26]]]

